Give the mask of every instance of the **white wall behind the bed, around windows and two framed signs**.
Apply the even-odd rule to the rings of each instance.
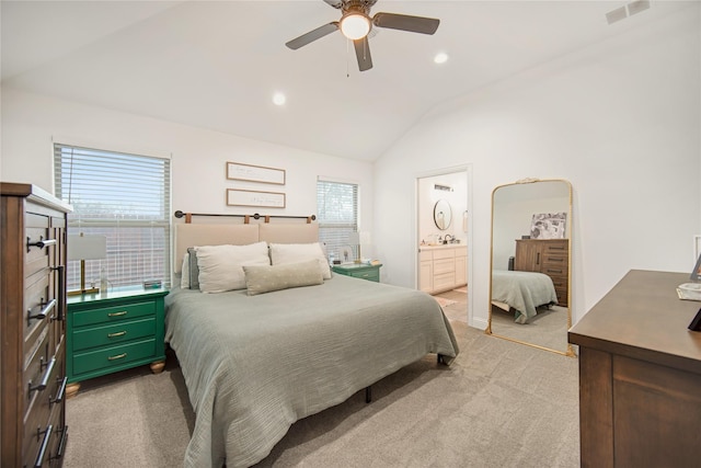
[[[172,155],[173,210],[199,213],[312,215],[317,176],[360,185],[360,225],[372,230],[372,165],[188,127],[143,116],[2,89],[0,179],[53,192],[53,137],[97,148]],[[226,179],[227,161],[286,170],[285,185]],[[226,205],[226,189],[284,192],[286,208]]]

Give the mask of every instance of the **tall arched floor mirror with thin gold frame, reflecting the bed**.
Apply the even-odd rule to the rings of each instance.
[[[572,185],[525,180],[492,193],[492,278],[485,332],[574,356]]]

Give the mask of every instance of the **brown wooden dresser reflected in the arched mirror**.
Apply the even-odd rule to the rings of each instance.
[[[514,270],[550,276],[558,303],[567,306],[570,296],[570,239],[517,239]]]

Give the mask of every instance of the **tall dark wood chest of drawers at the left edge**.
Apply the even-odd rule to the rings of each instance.
[[[0,195],[1,466],[60,466],[70,206],[28,184],[0,183]]]

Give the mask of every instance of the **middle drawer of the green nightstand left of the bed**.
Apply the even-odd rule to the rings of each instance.
[[[91,327],[89,329],[73,331],[73,352],[153,336],[154,333],[156,318],[153,317],[129,322],[111,323],[102,327]]]

